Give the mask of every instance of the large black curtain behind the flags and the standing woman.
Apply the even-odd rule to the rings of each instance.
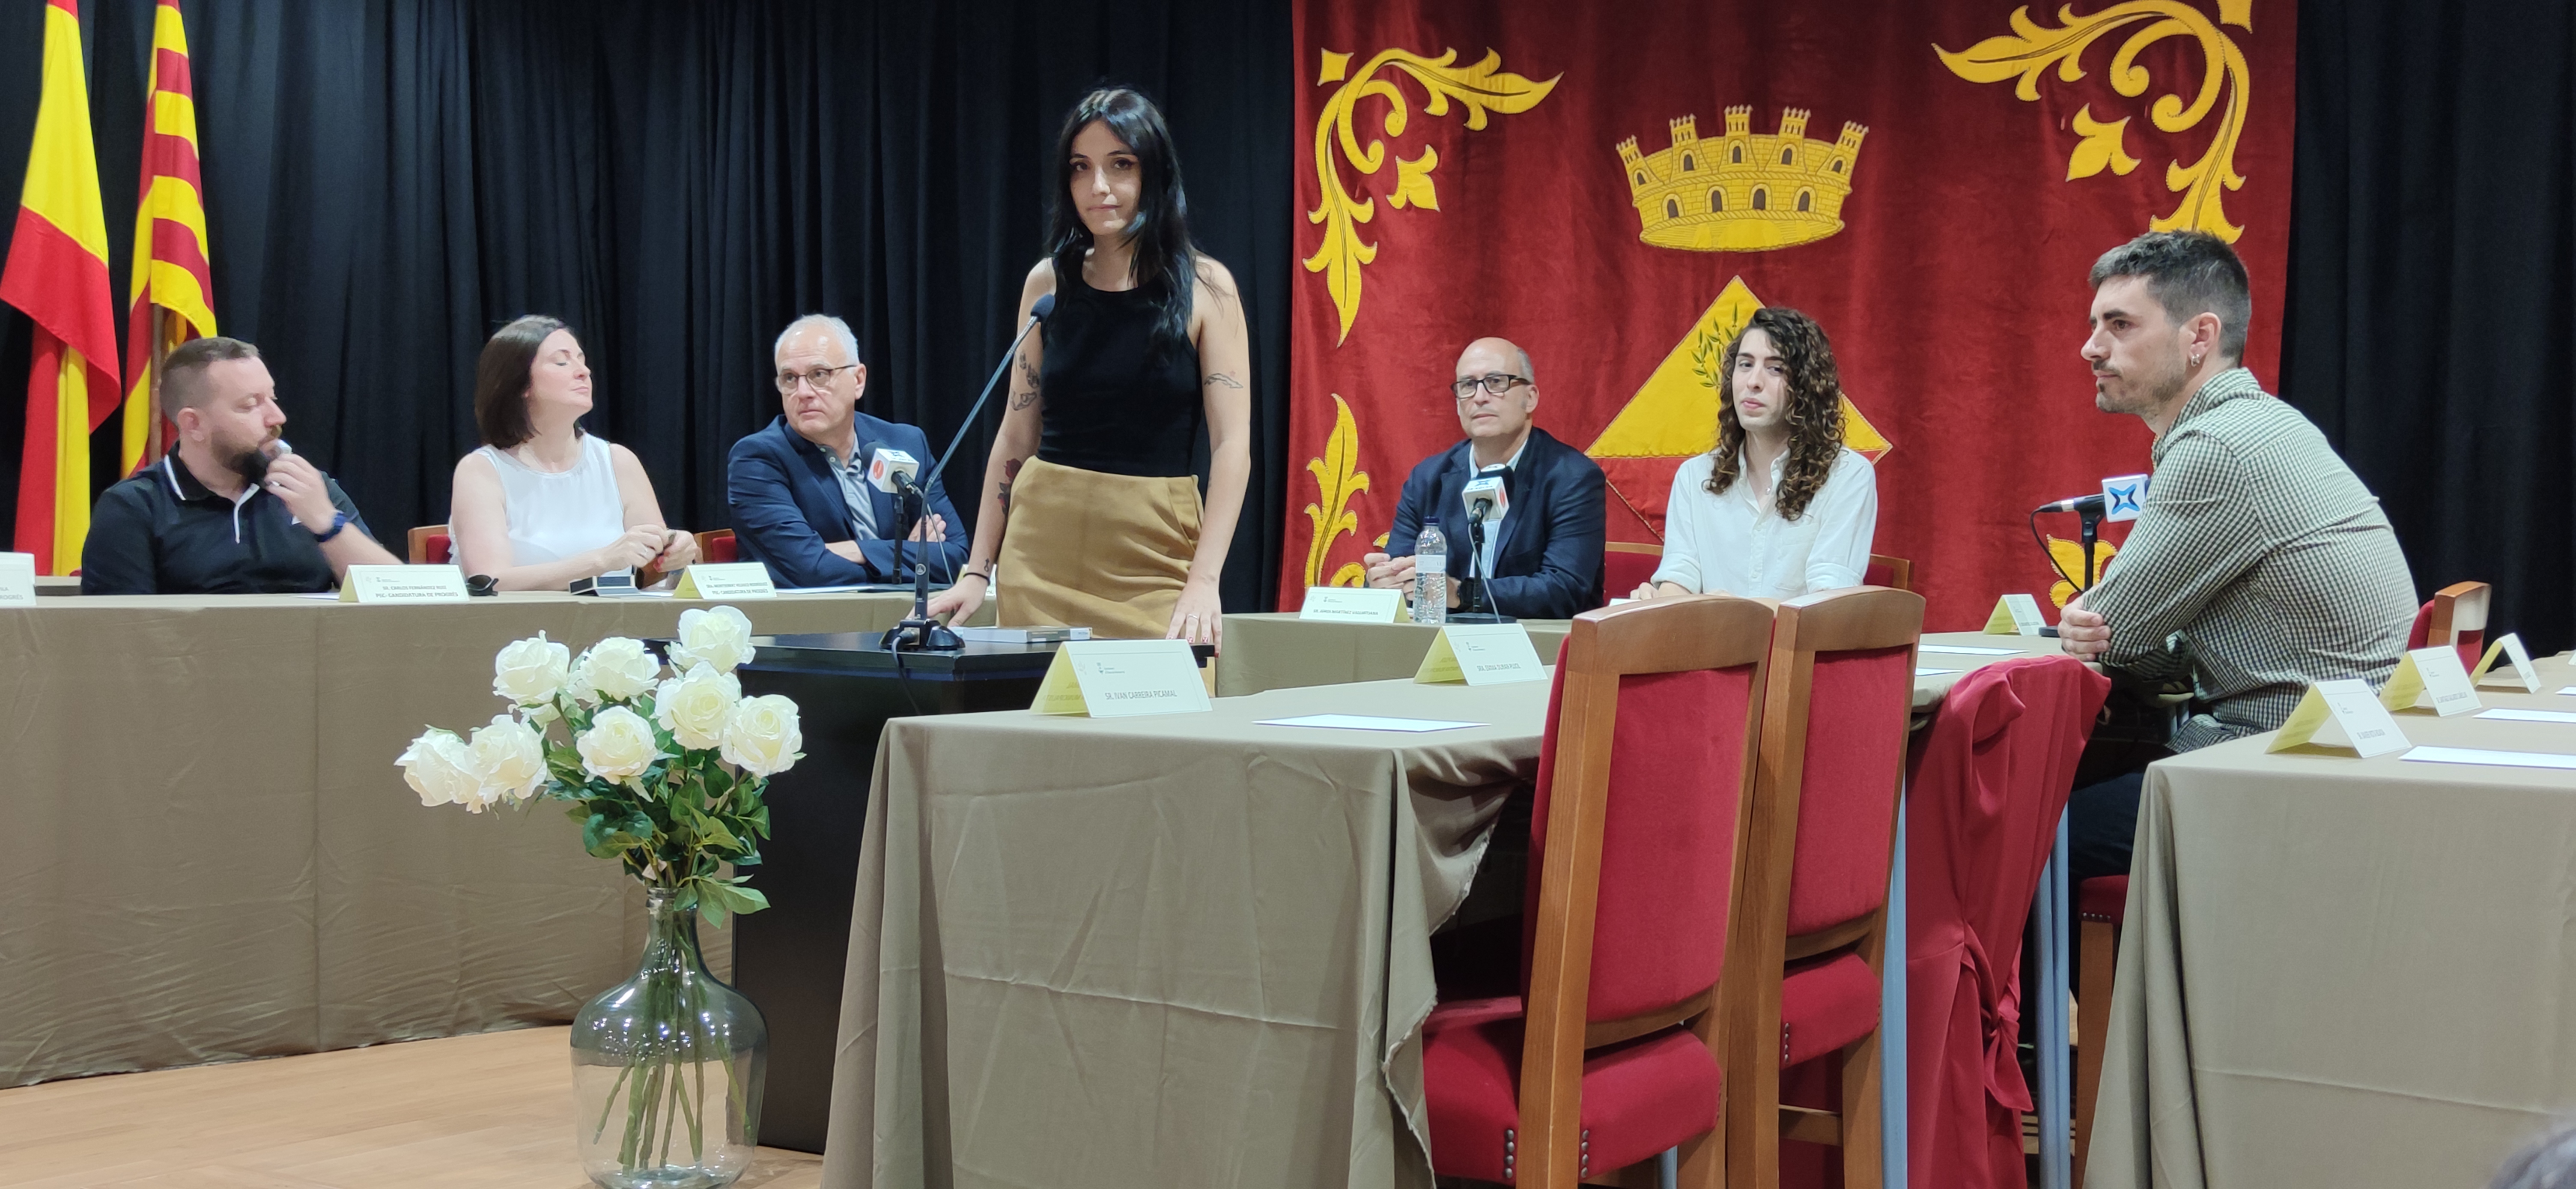
[[[23,59],[0,62],[10,204],[41,13],[0,8],[0,54]],[[82,3],[118,302],[149,13]],[[474,356],[523,312],[582,335],[590,428],[641,454],[680,526],[726,524],[724,454],[778,415],[770,340],[806,310],[858,330],[860,408],[945,444],[1041,255],[1056,121],[1100,80],[1144,88],[1172,119],[1198,240],[1252,315],[1255,462],[1226,606],[1267,606],[1285,524],[1285,0],[185,0],[185,18],[216,317],[268,356],[286,436],[397,547],[446,518],[474,446]],[[0,315],[0,503],[26,328]],[[999,408],[945,475],[961,506]]]

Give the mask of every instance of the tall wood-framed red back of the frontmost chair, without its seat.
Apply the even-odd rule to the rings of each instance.
[[[1522,1181],[1577,1179],[1587,1050],[1690,1024],[1723,1052],[1770,632],[1765,604],[1705,596],[1584,611],[1566,634],[1530,815]],[[1690,1145],[1685,1184],[1718,1184],[1721,1132]]]

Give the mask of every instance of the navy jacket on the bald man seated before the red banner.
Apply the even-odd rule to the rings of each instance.
[[[1471,578],[1476,562],[1468,555],[1466,503],[1458,500],[1471,477],[1473,441],[1422,459],[1404,477],[1386,555],[1412,557],[1422,518],[1437,516],[1450,544],[1450,578]],[[1602,539],[1610,521],[1600,464],[1533,426],[1520,467],[1512,467],[1502,490],[1510,493],[1512,511],[1502,518],[1494,580],[1486,583],[1492,609],[1517,619],[1574,619],[1602,606]]]

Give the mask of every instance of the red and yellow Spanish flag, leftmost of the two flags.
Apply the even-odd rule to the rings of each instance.
[[[80,565],[80,542],[90,534],[90,431],[116,413],[121,395],[108,214],[98,201],[77,0],[46,0],[44,98],[36,103],[18,230],[0,268],[0,302],[36,320],[18,467],[18,549],[36,555],[39,573],[59,575]]]

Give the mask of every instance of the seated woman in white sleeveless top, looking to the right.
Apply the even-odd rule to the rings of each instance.
[[[456,565],[502,591],[562,591],[603,573],[677,573],[698,539],[662,526],[644,464],[582,431],[590,364],[564,322],[500,328],[474,366],[484,446],[456,464],[448,534]]]

